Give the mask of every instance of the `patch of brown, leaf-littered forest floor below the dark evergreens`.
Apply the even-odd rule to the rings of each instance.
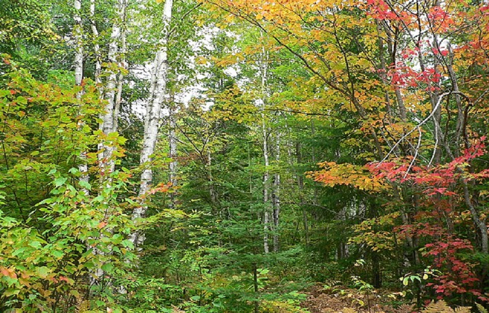
[[[306,294],[308,299],[302,303],[311,313],[366,313],[366,312],[404,312],[412,311],[405,305],[401,310],[394,309],[387,302],[392,298],[377,292],[361,293],[346,287],[311,287]],[[393,295],[395,296],[395,295]],[[390,300],[389,300],[390,299]]]

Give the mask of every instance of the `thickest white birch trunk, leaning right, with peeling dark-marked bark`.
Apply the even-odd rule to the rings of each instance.
[[[151,89],[148,106],[146,108],[143,149],[141,151],[140,162],[144,165],[143,173],[141,173],[141,183],[139,196],[144,196],[150,189],[153,179],[153,171],[151,169],[151,156],[154,153],[156,140],[158,137],[159,117],[161,106],[164,101],[164,96],[167,90],[168,79],[168,30],[172,18],[173,0],[165,2],[163,12],[164,31],[163,37],[160,40],[160,48],[156,52],[154,59],[154,73],[151,77]],[[142,204],[135,208],[132,212],[132,219],[138,219],[146,213],[147,206]],[[144,242],[144,234],[142,232],[134,232],[130,234],[129,240],[135,247],[141,246]]]

